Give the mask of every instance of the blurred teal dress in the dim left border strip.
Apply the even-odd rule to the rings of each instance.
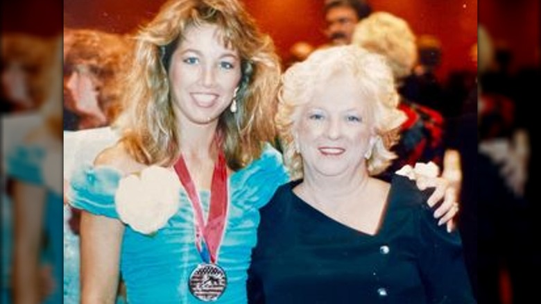
[[[62,193],[58,189],[51,189],[46,185],[44,174],[44,161],[48,150],[40,145],[15,146],[8,153],[8,176],[24,183],[46,187],[46,202],[44,205],[43,230],[46,242],[42,248],[42,262],[51,264],[55,289],[43,303],[62,303],[62,235],[63,235],[63,201]],[[60,162],[59,162],[60,164]],[[61,170],[58,177],[61,179]],[[78,292],[78,291],[76,291]]]

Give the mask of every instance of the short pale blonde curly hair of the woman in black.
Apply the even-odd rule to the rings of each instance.
[[[384,171],[395,158],[381,136],[400,126],[405,116],[397,110],[399,96],[385,58],[354,45],[321,49],[293,65],[282,76],[275,121],[284,149],[284,162],[293,180],[302,178],[302,155],[293,142],[302,107],[313,99],[318,85],[338,72],[350,73],[359,84],[361,94],[373,99],[368,104],[372,105],[372,128],[377,140],[367,160],[368,172],[374,175]]]

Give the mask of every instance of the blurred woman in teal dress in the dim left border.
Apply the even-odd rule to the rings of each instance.
[[[62,38],[56,37],[43,69],[45,101],[40,124],[7,153],[13,182],[15,303],[62,302]],[[49,267],[43,267],[46,263]]]

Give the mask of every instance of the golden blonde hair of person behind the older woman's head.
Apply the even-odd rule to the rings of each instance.
[[[411,74],[417,61],[415,34],[404,19],[388,12],[374,12],[361,20],[352,43],[385,56],[397,82]]]

